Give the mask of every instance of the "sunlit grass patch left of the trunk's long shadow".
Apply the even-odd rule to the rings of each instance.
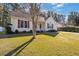
[[[31,36],[0,39],[0,55],[5,55],[29,39]]]

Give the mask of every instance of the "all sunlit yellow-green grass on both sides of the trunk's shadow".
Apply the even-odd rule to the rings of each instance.
[[[32,36],[0,39],[0,55],[11,51]],[[79,34],[60,32],[56,36],[40,34],[36,36],[19,56],[79,56]]]

